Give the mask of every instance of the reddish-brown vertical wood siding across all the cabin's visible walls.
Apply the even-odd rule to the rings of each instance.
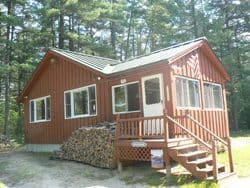
[[[188,129],[195,131],[201,138],[209,140],[208,135],[203,134],[202,130],[197,128],[193,122],[183,118],[186,111],[176,108],[176,90],[175,75],[193,77],[193,70],[187,65],[189,55],[186,55],[172,65],[176,65],[179,69],[170,68],[167,63],[160,63],[140,70],[128,71],[121,73],[112,78],[105,78],[94,71],[85,69],[84,67],[68,62],[64,58],[58,58],[56,63],[46,62],[47,65],[41,68],[39,78],[34,82],[28,94],[28,98],[24,101],[25,112],[25,140],[26,143],[33,144],[59,144],[65,141],[75,129],[95,125],[103,121],[115,120],[116,116],[112,113],[112,92],[114,85],[121,84],[121,79],[126,82],[138,81],[140,96],[140,111],[135,113],[121,114],[121,118],[133,118],[143,116],[142,103],[142,86],[141,78],[153,74],[161,73],[163,75],[163,93],[164,104],[170,116],[175,117],[180,123]],[[47,58],[49,59],[49,58]],[[209,62],[206,55],[199,51],[200,69],[201,69],[201,89],[203,81],[209,81],[222,84],[224,96],[224,110],[209,111],[202,107],[199,110],[189,110],[189,113],[207,128],[211,129],[220,137],[227,137],[228,119],[226,110],[224,79],[215,66]],[[46,59],[44,61],[47,61]],[[97,78],[101,77],[101,80]],[[75,119],[64,118],[64,91],[84,87],[90,84],[96,84],[97,94],[97,116],[84,117]],[[169,94],[169,96],[167,96]],[[29,122],[29,100],[51,95],[51,121],[43,123]],[[203,96],[203,92],[201,96]],[[204,104],[204,101],[203,101]],[[180,132],[175,126],[169,123],[170,136],[178,137]]]

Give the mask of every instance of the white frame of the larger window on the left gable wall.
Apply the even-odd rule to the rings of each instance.
[[[88,98],[88,114],[75,115],[74,114],[74,97],[73,97],[73,93],[86,90],[88,92],[88,96],[89,96],[88,88],[93,87],[93,86],[95,87],[95,108],[96,108],[95,114],[89,114],[90,110],[89,110],[89,98]],[[71,108],[70,109],[71,110],[71,116],[70,117],[67,117],[67,114],[66,114],[66,97],[65,97],[66,93],[70,93],[70,102],[71,102],[70,103],[70,108]],[[84,87],[64,91],[64,119],[75,119],[75,118],[97,116],[97,96],[96,95],[97,95],[96,84],[91,84],[91,85],[87,85],[87,86],[84,86]]]

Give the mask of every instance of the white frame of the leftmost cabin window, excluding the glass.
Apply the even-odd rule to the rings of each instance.
[[[50,119],[47,119],[47,98],[50,98]],[[44,104],[45,104],[45,119],[41,119],[41,120],[37,120],[37,101],[41,101],[44,100]],[[31,102],[34,102],[34,121],[31,120]],[[44,97],[39,97],[39,98],[35,98],[35,99],[31,99],[29,101],[29,115],[30,115],[30,123],[40,123],[40,122],[48,122],[51,121],[51,96],[47,95]]]

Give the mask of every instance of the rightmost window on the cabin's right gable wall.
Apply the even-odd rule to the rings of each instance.
[[[204,83],[204,97],[206,108],[223,108],[221,85]]]

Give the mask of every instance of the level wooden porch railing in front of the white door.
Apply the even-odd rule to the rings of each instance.
[[[168,139],[165,115],[120,119],[116,117],[116,139]]]

